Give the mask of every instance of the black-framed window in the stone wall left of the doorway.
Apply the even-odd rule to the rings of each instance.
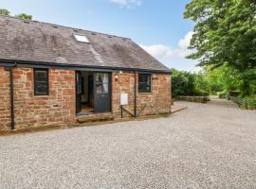
[[[48,69],[34,69],[34,94],[48,95]]]

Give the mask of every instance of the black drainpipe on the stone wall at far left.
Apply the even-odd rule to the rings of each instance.
[[[13,75],[12,68],[15,67],[17,63],[9,66],[9,100],[10,100],[10,129],[15,129],[15,114],[14,114],[14,95],[13,95]]]

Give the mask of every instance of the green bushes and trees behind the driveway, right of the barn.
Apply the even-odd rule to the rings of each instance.
[[[247,99],[256,99],[256,85],[249,86],[250,95],[244,95],[243,80],[236,70],[229,66],[215,69],[205,66],[198,73],[172,69],[172,93],[177,95],[227,95],[236,94]]]

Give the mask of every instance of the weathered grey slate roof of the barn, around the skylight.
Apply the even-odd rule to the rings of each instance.
[[[0,16],[0,60],[170,71],[131,39],[9,16]]]

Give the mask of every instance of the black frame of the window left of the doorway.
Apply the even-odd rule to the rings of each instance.
[[[38,81],[37,72],[46,72],[46,81]],[[46,84],[46,92],[40,93],[37,91],[38,84],[41,82],[45,82]],[[34,95],[48,95],[49,94],[49,70],[45,68],[34,68]]]

